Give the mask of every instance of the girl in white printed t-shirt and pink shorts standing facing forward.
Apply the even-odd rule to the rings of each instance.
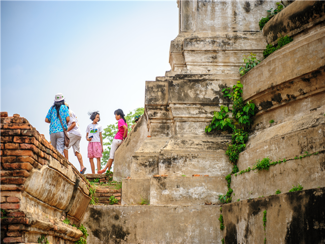
[[[102,132],[103,127],[98,124],[101,120],[99,112],[93,112],[90,115],[92,123],[87,126],[86,129],[86,139],[88,143],[88,158],[91,167],[91,173],[95,173],[95,165],[93,159],[97,159],[97,169],[101,170],[101,158],[103,157],[103,138]]]

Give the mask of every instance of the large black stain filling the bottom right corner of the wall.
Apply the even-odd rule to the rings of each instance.
[[[285,243],[323,243],[325,189],[293,192],[287,196],[293,209],[293,216],[286,230]]]

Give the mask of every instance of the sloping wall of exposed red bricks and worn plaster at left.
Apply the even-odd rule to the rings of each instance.
[[[1,115],[1,114],[0,114]],[[27,119],[0,117],[0,243],[74,243],[89,183]],[[65,242],[64,242],[65,241]]]

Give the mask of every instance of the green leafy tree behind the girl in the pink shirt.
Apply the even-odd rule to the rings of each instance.
[[[129,112],[125,116],[126,124],[127,124],[127,134],[129,134],[132,130],[131,126],[134,124],[134,117],[136,115],[142,115],[144,113],[144,108],[137,108],[131,112]],[[110,157],[110,151],[111,151],[111,144],[114,139],[114,136],[116,135],[118,131],[117,128],[117,121],[115,124],[111,124],[107,126],[104,129],[104,132],[102,133],[103,136],[103,146],[104,146],[104,151],[103,151],[103,158],[102,158],[102,166],[105,166],[109,157]]]

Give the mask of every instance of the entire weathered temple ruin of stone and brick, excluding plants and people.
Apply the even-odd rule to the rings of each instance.
[[[282,1],[261,32],[258,20],[276,2],[177,1],[172,70],[146,81],[145,114],[115,154],[122,189],[101,187],[106,176],[94,186],[108,205],[88,206],[88,182],[26,119],[1,118],[3,242],[37,243],[44,234],[74,243],[82,233],[72,224],[83,224],[91,244],[324,243],[325,3]],[[293,42],[263,58],[286,35]],[[241,77],[250,52],[263,60]],[[232,107],[221,90],[237,80],[258,111],[231,174],[231,134],[204,129],[213,111]],[[266,157],[285,161],[248,170]],[[230,188],[231,203],[221,203]],[[111,196],[119,203],[110,205]]]

